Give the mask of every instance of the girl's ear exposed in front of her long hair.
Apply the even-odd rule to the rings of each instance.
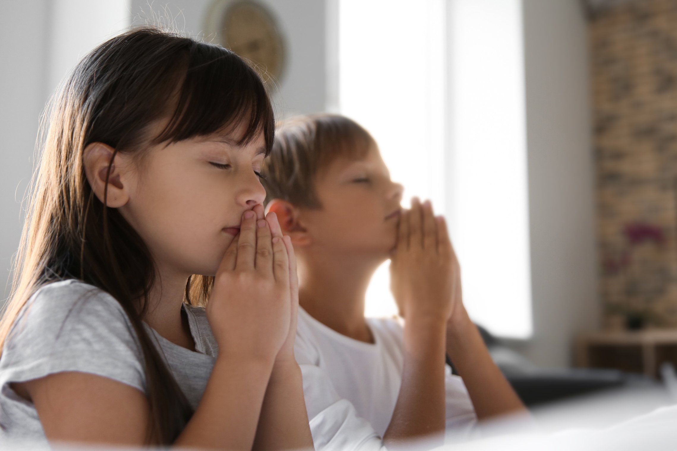
[[[115,149],[104,143],[91,143],[85,147],[83,152],[87,181],[102,204],[106,191],[106,174],[108,174],[108,165],[110,164],[108,193],[105,193],[106,206],[110,208],[121,207],[129,201],[129,193],[123,184],[125,178],[123,169],[126,165],[123,164],[122,160],[120,154],[115,153]]]

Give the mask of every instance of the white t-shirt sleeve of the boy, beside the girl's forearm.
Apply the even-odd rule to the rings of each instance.
[[[357,415],[351,402],[336,393],[326,370],[318,364],[317,350],[302,331],[297,333],[294,354],[303,375],[303,394],[315,450],[385,450],[372,425]]]

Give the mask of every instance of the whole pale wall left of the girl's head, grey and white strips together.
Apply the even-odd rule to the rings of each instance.
[[[128,0],[3,2],[0,28],[0,293],[18,248],[39,116],[80,57],[129,25]],[[6,283],[7,282],[7,283]],[[0,301],[0,305],[2,302]]]

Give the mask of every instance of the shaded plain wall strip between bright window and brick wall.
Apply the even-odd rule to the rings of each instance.
[[[523,7],[534,334],[519,348],[565,366],[600,310],[588,29],[578,1]]]

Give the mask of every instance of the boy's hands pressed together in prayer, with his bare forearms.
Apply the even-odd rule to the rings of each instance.
[[[414,197],[411,210],[401,213],[390,269],[391,290],[406,321],[405,342],[418,352],[418,366],[405,364],[403,385],[420,384],[416,398],[398,402],[393,420],[398,409],[416,409],[420,414],[408,423],[410,435],[443,429],[443,403],[439,402],[443,399],[443,364],[439,354],[435,355],[440,336],[466,384],[478,419],[525,410],[463,306],[460,265],[445,220],[433,215],[430,201],[420,204]]]

